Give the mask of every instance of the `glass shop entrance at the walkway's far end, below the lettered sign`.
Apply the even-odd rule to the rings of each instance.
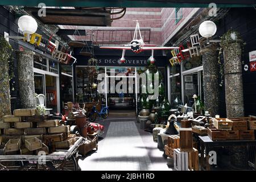
[[[137,109],[136,67],[105,67],[108,78],[106,101],[112,111],[123,110],[124,113]]]

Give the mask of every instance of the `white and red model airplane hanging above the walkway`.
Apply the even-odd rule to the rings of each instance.
[[[138,38],[138,32],[139,32],[139,39]],[[137,20],[136,28],[134,31],[133,40],[131,40],[130,44],[126,44],[125,46],[102,46],[100,47],[102,49],[121,49],[123,50],[122,57],[120,59],[120,64],[125,62],[125,51],[131,50],[135,53],[139,53],[145,50],[151,50],[151,57],[149,58],[151,63],[155,61],[154,59],[154,50],[170,50],[170,49],[179,49],[179,47],[156,47],[156,45],[153,44],[145,44],[143,42],[141,31],[139,30],[139,22]]]

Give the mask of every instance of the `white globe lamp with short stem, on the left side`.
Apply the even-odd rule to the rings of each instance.
[[[38,23],[32,16],[23,15],[18,20],[18,26],[21,31],[27,34],[27,42],[30,41],[30,35],[38,29]]]

